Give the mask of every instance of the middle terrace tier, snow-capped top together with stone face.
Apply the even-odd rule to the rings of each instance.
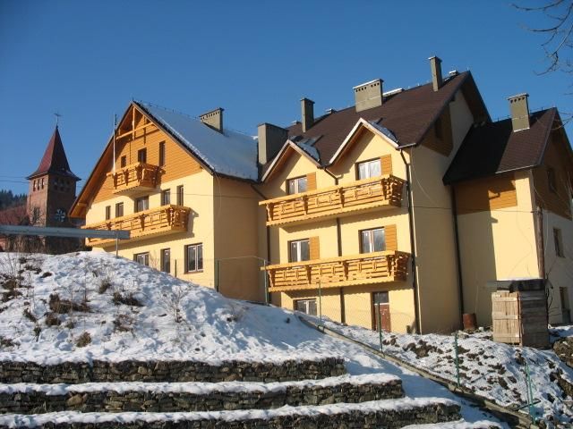
[[[218,411],[390,400],[404,396],[389,374],[283,383],[0,384],[0,413]]]

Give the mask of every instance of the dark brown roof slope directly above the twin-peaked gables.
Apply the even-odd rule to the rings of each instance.
[[[360,118],[377,122],[390,130],[398,138],[399,147],[416,144],[423,139],[427,130],[467,80],[473,83],[469,71],[445,80],[438,91],[434,91],[432,83],[429,83],[384,97],[382,105],[362,112],[357,113],[355,106],[348,107],[318,118],[312,128],[304,133],[302,125],[297,122],[288,128],[289,137],[302,135],[306,138],[320,138],[314,147],[321,155],[321,164],[329,162]]]

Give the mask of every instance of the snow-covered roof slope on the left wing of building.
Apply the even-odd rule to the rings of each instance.
[[[256,181],[257,141],[233,130],[218,132],[191,116],[135,102],[213,171]]]

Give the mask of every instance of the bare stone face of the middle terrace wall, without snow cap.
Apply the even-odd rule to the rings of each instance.
[[[201,394],[160,391],[70,391],[65,395],[44,392],[0,394],[0,413],[41,414],[55,411],[81,412],[174,412],[269,409],[285,405],[324,405],[338,402],[402,398],[402,382],[340,383],[332,386],[286,386],[279,391],[211,391]]]

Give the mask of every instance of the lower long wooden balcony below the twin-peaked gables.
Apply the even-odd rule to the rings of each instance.
[[[410,255],[396,250],[352,257],[332,257],[268,265],[269,291],[341,288],[362,284],[405,282]]]

